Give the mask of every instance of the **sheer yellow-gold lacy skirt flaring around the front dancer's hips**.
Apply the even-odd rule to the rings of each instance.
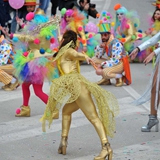
[[[91,93],[106,135],[113,137],[115,132],[115,116],[119,113],[117,99],[112,93],[88,81],[79,73],[66,74],[52,81],[49,100],[44,115],[41,118],[43,131],[45,131],[46,120],[49,122],[50,127],[53,121],[52,113],[56,109],[62,108],[66,103],[74,102],[79,97],[81,85],[85,85]]]

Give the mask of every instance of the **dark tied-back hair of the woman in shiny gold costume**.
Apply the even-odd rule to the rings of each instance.
[[[59,49],[61,49],[63,46],[65,46],[70,41],[73,41],[73,43],[76,47],[76,41],[77,41],[77,33],[76,32],[74,32],[72,30],[66,31],[63,35],[63,39],[64,39],[64,41],[62,42]]]

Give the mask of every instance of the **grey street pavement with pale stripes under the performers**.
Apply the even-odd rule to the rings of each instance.
[[[142,20],[149,11],[154,11],[151,2],[147,0],[91,2],[97,4],[99,12],[108,10],[113,14],[113,6],[121,3],[128,9],[136,9]],[[141,26],[143,29],[147,28],[145,23]],[[160,160],[160,133],[154,132],[154,128],[150,133],[141,132],[141,127],[148,122],[150,104],[135,106],[132,103],[145,91],[152,69],[152,64],[145,66],[131,63],[130,86],[115,87],[114,79],[112,85],[101,86],[116,96],[120,106],[120,113],[116,117],[115,136],[109,137],[114,160]],[[81,73],[92,82],[101,79],[88,64],[81,66]],[[44,92],[49,93],[50,84],[45,82],[43,88]],[[61,112],[60,118],[43,133],[39,119],[44,112],[45,104],[34,95],[32,87],[31,91],[31,117],[18,118],[14,114],[16,108],[22,104],[21,87],[12,92],[0,89],[0,160],[93,160],[99,154],[101,144],[94,127],[83,113],[79,110],[73,114],[67,154],[60,155],[57,149],[61,138]]]

